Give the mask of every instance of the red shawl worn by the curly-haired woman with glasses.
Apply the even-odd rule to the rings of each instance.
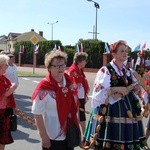
[[[76,123],[76,125],[78,125],[76,117],[77,106],[75,104],[73,96],[73,94],[75,94],[75,90],[73,89],[71,78],[66,73],[64,74],[64,76],[66,79],[66,87],[59,87],[58,83],[52,78],[51,74],[48,74],[37,85],[32,95],[32,100],[34,100],[41,90],[43,91],[42,96],[40,96],[40,99],[42,100],[47,94],[44,93],[44,90],[56,92],[57,112],[62,129],[64,127],[64,123],[66,122],[69,113],[71,114],[72,121]]]

